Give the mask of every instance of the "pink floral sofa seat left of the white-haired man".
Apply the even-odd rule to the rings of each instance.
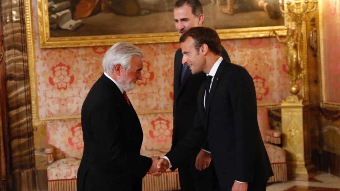
[[[47,179],[70,180],[77,179],[77,171],[80,166],[80,159],[64,158],[54,161],[47,168]]]

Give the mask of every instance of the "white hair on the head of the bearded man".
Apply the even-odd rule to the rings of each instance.
[[[103,69],[111,75],[116,64],[121,64],[126,71],[130,68],[130,60],[132,56],[143,58],[143,52],[136,46],[128,42],[118,42],[106,51],[103,57]]]

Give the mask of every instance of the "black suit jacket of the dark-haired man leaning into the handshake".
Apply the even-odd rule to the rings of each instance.
[[[207,114],[204,93],[202,84],[194,128],[166,155],[171,170],[207,139],[222,191],[231,190],[234,180],[265,183],[273,172],[257,123],[255,86],[248,71],[224,59],[205,103]]]

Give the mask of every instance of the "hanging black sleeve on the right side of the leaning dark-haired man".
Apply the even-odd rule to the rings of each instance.
[[[234,113],[236,141],[236,179],[251,183],[253,181],[257,105],[253,78],[243,67],[231,72],[229,82],[230,100]]]

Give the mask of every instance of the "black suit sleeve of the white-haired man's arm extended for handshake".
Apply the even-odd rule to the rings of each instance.
[[[95,108],[91,113],[91,126],[94,129],[95,162],[106,164],[109,171],[120,170],[144,177],[152,165],[152,159],[130,152],[123,144],[122,128],[133,128],[118,124],[117,111],[105,107]]]

